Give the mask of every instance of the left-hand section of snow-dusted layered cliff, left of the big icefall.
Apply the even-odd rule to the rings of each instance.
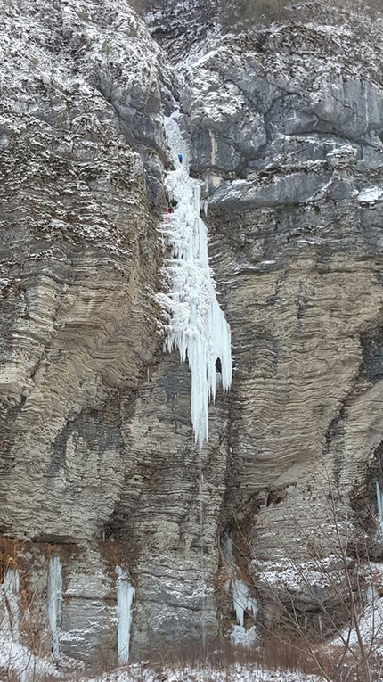
[[[163,196],[159,49],[113,2],[14,0],[0,24],[0,527],[35,541],[23,589],[38,653],[94,659],[108,642],[108,658],[117,630],[103,599],[116,600],[118,557],[105,563],[97,542],[124,485],[123,414],[159,349],[148,213]],[[53,552],[66,596],[59,647],[46,599]],[[20,637],[33,634],[22,617],[23,627]]]

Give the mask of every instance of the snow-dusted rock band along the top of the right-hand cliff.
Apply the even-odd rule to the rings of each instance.
[[[326,19],[328,23],[323,17],[295,21],[291,16],[292,21],[227,34],[210,25],[204,40],[177,59],[175,69],[180,78],[185,73],[188,85],[196,90],[206,86],[211,72],[224,79],[233,68],[240,89],[254,73],[291,93],[299,88],[319,91],[325,75],[367,79],[382,86],[383,44],[377,37],[383,31],[383,14],[371,18],[368,13],[329,12]]]

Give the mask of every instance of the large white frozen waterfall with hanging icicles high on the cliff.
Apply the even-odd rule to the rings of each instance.
[[[188,174],[188,150],[176,121],[179,111],[166,119],[167,139],[175,170],[167,174],[167,193],[175,202],[163,233],[170,248],[166,276],[169,291],[160,297],[170,315],[166,348],[178,349],[192,371],[192,426],[200,448],[208,440],[208,400],[215,399],[220,382],[232,382],[230,326],[216,300],[208,263],[208,232],[200,218],[200,185]],[[178,154],[183,154],[183,163]],[[220,371],[216,371],[216,361]]]

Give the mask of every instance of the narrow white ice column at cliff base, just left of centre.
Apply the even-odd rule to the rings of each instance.
[[[130,630],[135,589],[126,571],[116,566],[117,579],[117,651],[119,665],[129,661]]]

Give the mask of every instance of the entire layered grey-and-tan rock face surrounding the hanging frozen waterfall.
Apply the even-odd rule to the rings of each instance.
[[[234,579],[273,626],[275,558],[333,554],[329,486],[374,515],[383,481],[382,20],[212,29],[172,65],[114,0],[0,12],[0,577],[22,569],[20,641],[51,648],[52,555],[62,655],[115,662],[118,566],[133,656],[226,636]],[[201,453],[156,300],[175,100],[235,357]]]

